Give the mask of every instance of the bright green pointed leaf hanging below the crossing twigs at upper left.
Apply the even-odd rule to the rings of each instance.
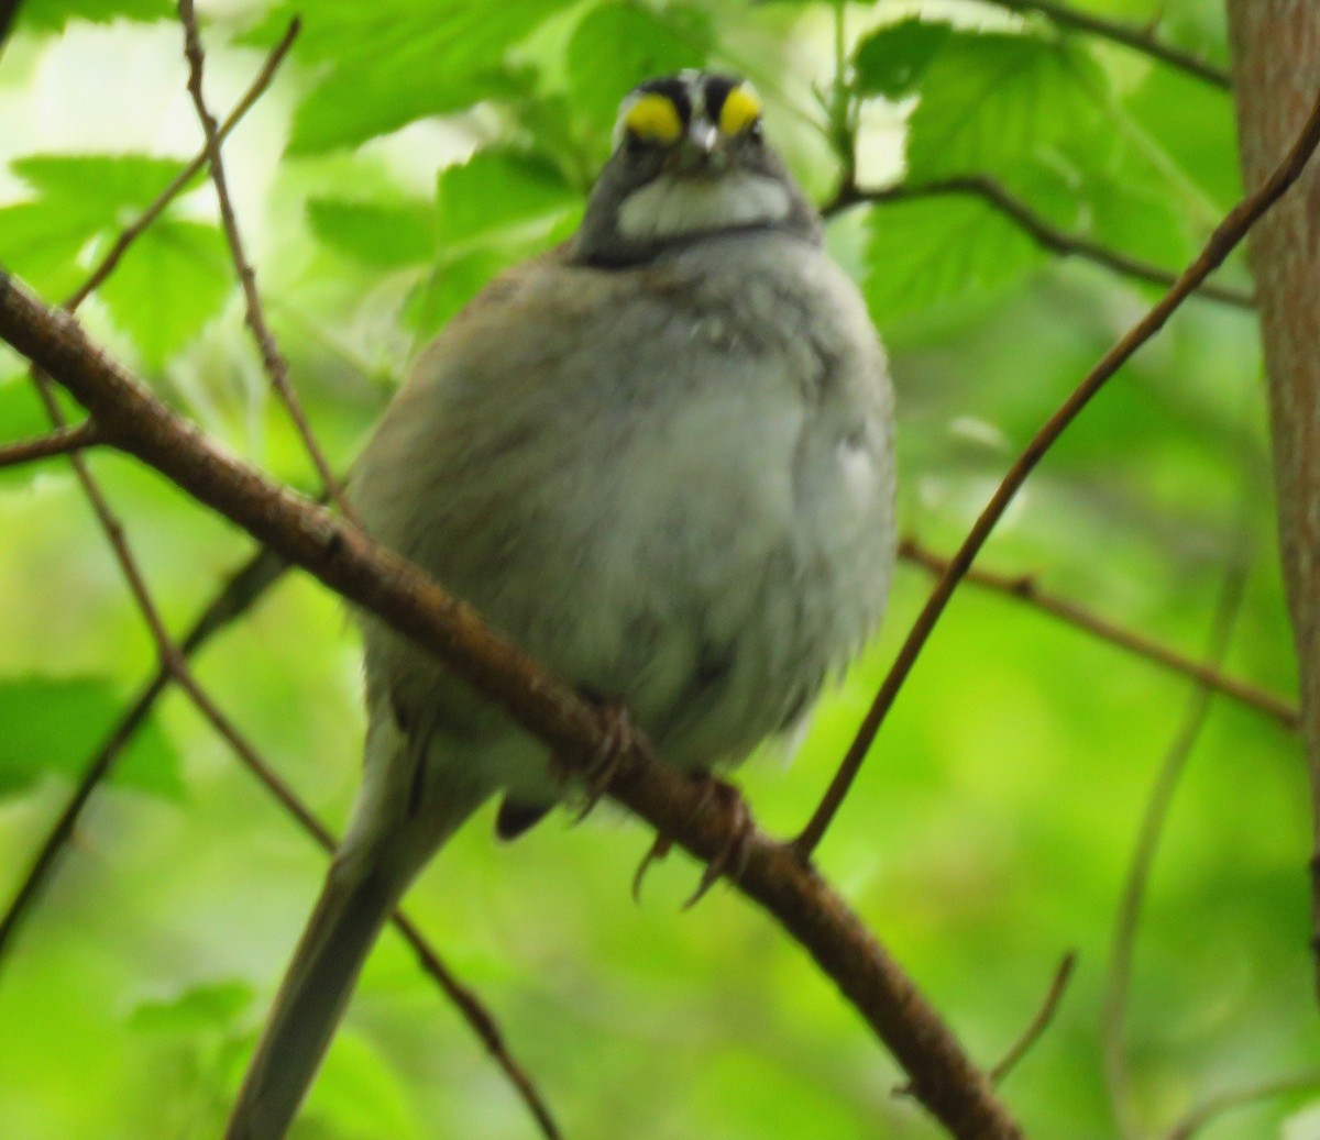
[[[100,286],[115,323],[160,368],[224,306],[234,289],[219,227],[160,219]]]

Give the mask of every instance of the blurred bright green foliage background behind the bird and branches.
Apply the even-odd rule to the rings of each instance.
[[[1226,58],[1216,0],[1074,3]],[[1228,94],[993,3],[215,4],[203,15],[218,112],[298,11],[293,58],[226,150],[269,318],[341,468],[425,339],[499,269],[572,231],[616,100],[656,71],[750,75],[771,136],[821,201],[842,169],[829,141],[841,108],[858,124],[863,187],[993,175],[1049,224],[1170,270],[1239,193]],[[198,145],[170,16],[157,0],[20,9],[0,57],[0,264],[51,300]],[[314,490],[242,329],[213,201],[194,183],[84,321],[205,430]],[[841,210],[829,241],[891,350],[904,526],[950,549],[1016,449],[1155,290],[1048,255],[974,197]],[[1224,276],[1246,284],[1241,263]],[[1291,693],[1262,402],[1250,314],[1191,302],[1032,476],[985,562],[1193,656],[1222,583],[1245,573],[1225,668]],[[41,416],[21,363],[0,355],[0,439],[40,431]],[[247,541],[123,459],[91,464],[166,620],[183,628]],[[920,570],[900,573],[882,636],[793,764],[743,769],[772,830],[804,821],[925,587]],[[7,900],[74,775],[154,668],[61,462],[0,479],[0,631]],[[341,825],[362,716],[339,603],[289,575],[207,647],[198,672]],[[1078,951],[1052,1027],[1003,1087],[1038,1140],[1119,1135],[1101,1062],[1111,933],[1191,693],[968,587],[820,852],[986,1063],[1030,1020],[1063,951]],[[1122,1099],[1143,1135],[1167,1133],[1208,1096],[1313,1070],[1305,805],[1294,736],[1217,699],[1135,946]],[[892,1062],[763,916],[729,891],[680,913],[697,873],[681,858],[652,875],[642,908],[628,901],[644,829],[602,809],[499,847],[490,822],[446,848],[411,908],[490,1004],[565,1135],[936,1135],[891,1095]],[[191,707],[166,697],[0,961],[0,1135],[216,1136],[322,866]],[[1313,1137],[1315,1096],[1241,1108],[1204,1136]],[[296,1135],[535,1132],[387,934]]]

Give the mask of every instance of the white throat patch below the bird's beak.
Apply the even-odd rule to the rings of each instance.
[[[787,187],[762,174],[727,172],[718,178],[661,174],[634,190],[619,207],[619,235],[653,241],[739,226],[772,226],[788,218]]]

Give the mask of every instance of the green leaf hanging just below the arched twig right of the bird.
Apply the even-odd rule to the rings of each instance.
[[[1030,238],[975,198],[875,206],[869,224],[863,289],[879,322],[1006,289],[1041,260]]]

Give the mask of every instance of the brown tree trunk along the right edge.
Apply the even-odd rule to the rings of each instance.
[[[1283,157],[1320,95],[1320,0],[1228,0],[1247,191]],[[1302,685],[1313,851],[1320,852],[1320,161],[1255,227],[1251,270],[1270,387],[1279,541]],[[1320,994],[1320,856],[1312,858]]]

